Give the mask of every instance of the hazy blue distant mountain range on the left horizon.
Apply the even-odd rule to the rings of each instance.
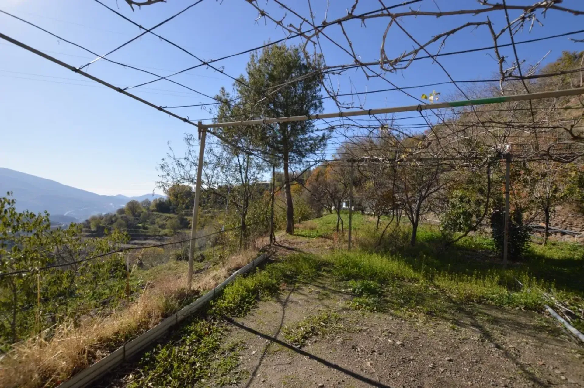
[[[12,191],[16,199],[17,210],[35,213],[46,210],[51,215],[51,223],[63,224],[83,221],[93,214],[111,213],[133,199],[142,201],[164,197],[158,194],[138,197],[99,195],[51,179],[0,167],[0,196],[5,196],[8,191]]]

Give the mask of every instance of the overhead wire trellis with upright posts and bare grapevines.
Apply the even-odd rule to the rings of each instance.
[[[281,40],[276,40],[270,43],[260,45],[258,47],[250,48],[237,52],[232,55],[227,55],[222,58],[206,61],[186,48],[173,43],[173,41],[161,36],[154,30],[158,27],[171,22],[176,16],[187,12],[189,9],[195,7],[202,0],[190,3],[180,12],[166,18],[162,22],[156,24],[150,29],[144,29],[139,23],[131,20],[130,17],[124,16],[114,8],[105,3],[95,0],[99,5],[107,8],[117,17],[121,17],[126,22],[138,26],[141,29],[140,34],[118,45],[113,50],[106,54],[99,55],[96,52],[89,50],[72,40],[57,36],[56,34],[29,22],[22,17],[12,15],[11,13],[0,10],[7,16],[14,17],[23,23],[28,24],[36,29],[40,29],[50,36],[58,38],[67,44],[74,45],[82,50],[89,52],[96,56],[96,58],[82,66],[73,66],[67,64],[60,59],[57,59],[46,52],[40,51],[32,45],[23,43],[5,33],[0,32],[0,38],[9,43],[18,45],[19,47],[33,52],[40,57],[54,62],[57,65],[63,66],[73,72],[87,77],[103,86],[109,87],[124,94],[134,100],[140,101],[158,111],[168,114],[170,117],[180,119],[186,124],[197,127],[200,139],[200,150],[198,155],[197,173],[196,173],[196,190],[194,199],[194,211],[192,221],[192,235],[190,238],[189,251],[189,274],[187,283],[190,287],[193,274],[193,258],[195,255],[196,244],[194,240],[197,236],[197,218],[199,212],[199,198],[201,192],[203,165],[205,161],[205,143],[207,133],[217,137],[218,140],[230,144],[233,149],[238,150],[242,154],[259,158],[266,164],[272,166],[272,184],[271,184],[271,220],[270,220],[270,242],[273,242],[274,236],[274,192],[275,189],[275,170],[280,165],[279,156],[269,154],[260,150],[251,149],[244,143],[233,142],[228,136],[225,136],[225,129],[233,126],[248,126],[260,127],[270,126],[273,124],[284,124],[287,122],[311,121],[316,125],[321,126],[318,130],[328,134],[328,147],[321,150],[320,154],[315,154],[312,158],[303,160],[304,167],[310,168],[321,163],[330,163],[331,154],[333,150],[345,150],[342,158],[333,158],[333,161],[345,160],[350,164],[351,176],[354,173],[355,165],[363,164],[386,164],[398,165],[400,163],[411,163],[418,166],[434,166],[441,164],[456,164],[468,168],[482,168],[493,163],[496,160],[506,161],[506,211],[505,217],[509,218],[509,165],[512,162],[522,161],[537,161],[537,160],[551,160],[558,163],[570,163],[578,160],[584,155],[584,132],[582,132],[582,119],[584,117],[584,103],[582,102],[582,94],[584,94],[584,87],[582,85],[582,72],[584,70],[583,64],[568,70],[557,70],[545,74],[537,73],[538,65],[543,61],[540,59],[533,66],[527,68],[524,61],[519,58],[517,54],[517,46],[545,42],[559,37],[572,37],[582,34],[584,30],[568,31],[566,33],[554,34],[546,37],[534,38],[530,40],[518,40],[517,36],[523,29],[543,28],[538,27],[541,24],[541,17],[545,17],[551,13],[573,15],[574,17],[584,15],[584,10],[574,9],[569,6],[564,6],[559,0],[536,1],[533,3],[526,2],[523,5],[507,5],[505,0],[502,3],[491,3],[489,1],[479,1],[477,8],[468,9],[449,9],[440,10],[435,2],[423,2],[422,0],[411,0],[392,5],[385,5],[384,2],[379,2],[379,6],[375,9],[367,8],[358,0],[354,1],[350,8],[346,9],[346,14],[328,20],[329,13],[334,12],[334,5],[327,2],[326,10],[324,12],[324,20],[321,23],[315,21],[315,15],[312,10],[311,1],[308,0],[308,15],[302,15],[294,7],[286,5],[286,3],[279,0],[269,0],[266,5],[260,5],[257,1],[247,1],[257,12],[258,17],[256,22],[263,21],[266,24],[273,23],[279,29],[284,31],[286,35]],[[162,0],[148,0],[143,2],[126,0],[132,10],[138,12],[141,6],[165,6],[165,1]],[[430,9],[430,6],[436,6],[437,10]],[[412,6],[419,6],[420,8],[413,9]],[[273,9],[272,9],[273,8]],[[510,13],[516,13],[514,18],[510,17]],[[416,39],[411,33],[409,27],[406,26],[406,20],[422,19],[428,17],[452,18],[459,20],[460,16],[468,15],[472,20],[465,20],[464,23],[458,23],[453,28],[446,31],[440,31],[426,40]],[[499,17],[504,20],[502,28],[496,28],[496,23],[492,22],[493,17]],[[290,18],[294,18],[290,22]],[[458,18],[458,19],[456,19]],[[369,58],[372,60],[364,60],[359,54],[360,47],[355,38],[352,38],[349,27],[351,23],[359,24],[367,27],[367,23],[379,22],[385,23],[385,27],[381,29],[380,43],[381,48],[378,58]],[[460,20],[459,20],[460,21]],[[492,44],[488,47],[475,47],[467,50],[458,50],[451,52],[444,52],[443,48],[447,41],[457,34],[464,33],[468,30],[484,30],[492,40]],[[388,41],[394,30],[399,31],[405,38],[412,42],[412,50],[401,52],[397,55],[392,54],[389,50]],[[177,50],[184,52],[189,57],[194,58],[197,62],[193,66],[186,69],[172,73],[168,76],[161,76],[150,70],[144,70],[136,66],[130,66],[119,61],[113,61],[108,58],[113,52],[122,50],[128,44],[139,39],[140,37],[151,34],[159,40],[164,41],[175,47]],[[266,117],[261,111],[253,111],[242,107],[242,114],[238,117],[222,117],[215,118],[215,122],[204,122],[205,120],[193,120],[185,115],[177,113],[177,110],[183,108],[203,107],[213,109],[217,105],[225,103],[225,101],[217,100],[216,97],[209,96],[190,87],[184,83],[177,82],[173,79],[176,75],[185,73],[188,70],[195,68],[209,68],[221,75],[233,80],[236,84],[241,84],[242,87],[251,88],[245,83],[245,80],[239,79],[230,75],[223,67],[218,66],[218,62],[224,61],[228,58],[237,57],[242,54],[262,50],[275,44],[285,43],[294,38],[300,40],[300,47],[307,62],[317,63],[319,66],[314,72],[298,77],[297,79],[289,80],[286,84],[274,85],[267,90],[260,90],[260,96],[266,98],[272,93],[276,93],[280,88],[292,85],[296,82],[301,82],[306,77],[319,77],[322,83],[322,90],[325,91],[327,98],[333,101],[338,108],[335,112],[329,113],[314,113],[293,117]],[[502,40],[509,38],[509,43],[501,43]],[[582,40],[578,38],[571,38],[575,43]],[[347,57],[344,64],[332,65],[327,63],[328,53],[323,49],[321,41],[326,41],[331,47],[335,47]],[[503,54],[503,50],[509,49],[509,55]],[[432,52],[430,52],[432,50]],[[492,58],[495,60],[496,72],[498,77],[488,80],[455,80],[451,76],[451,72],[442,64],[442,58],[453,55],[464,55],[470,52],[487,51],[490,52]],[[546,54],[547,55],[547,54]],[[391,79],[390,75],[397,72],[408,71],[413,64],[418,61],[431,61],[437,66],[441,73],[446,75],[447,82],[437,82],[433,84],[399,87]],[[137,72],[146,73],[155,77],[148,82],[142,82],[134,86],[119,87],[100,77],[89,74],[86,70],[89,65],[97,61],[108,61],[113,64],[129,68]],[[510,62],[509,62],[510,61]],[[376,68],[376,66],[378,68]],[[391,86],[388,89],[370,90],[370,91],[353,91],[350,93],[341,93],[338,87],[334,86],[332,80],[333,76],[342,76],[346,74],[347,70],[358,69],[364,79],[378,79]],[[580,83],[569,88],[552,89],[550,90],[534,90],[530,80],[541,79],[557,79],[562,76],[580,76]],[[554,78],[555,77],[555,78]],[[144,98],[136,96],[131,93],[132,89],[143,87],[148,84],[157,82],[169,82],[174,86],[180,87],[200,94],[201,96],[211,98],[213,103],[195,104],[195,105],[180,105],[168,107],[161,104],[155,104]],[[481,96],[474,97],[468,90],[464,90],[461,85],[471,84],[496,84],[496,95],[486,98]],[[351,83],[352,84],[352,83]],[[453,86],[460,98],[452,99],[451,101],[439,101],[440,93],[430,93],[429,96],[423,95],[418,98],[414,96],[409,89],[415,87],[431,87],[439,85]],[[416,100],[415,105],[392,107],[392,108],[372,108],[366,109],[365,103],[360,100],[361,96],[366,97],[376,93],[384,93],[387,91],[398,91],[408,98]],[[347,101],[346,98],[350,98]],[[262,99],[263,99],[262,98]],[[345,99],[344,99],[345,98]],[[355,103],[357,98],[358,103]],[[545,101],[545,104],[535,104],[534,101]],[[228,103],[237,106],[237,98],[228,101]],[[493,109],[485,108],[493,107]],[[400,125],[398,121],[401,118],[395,116],[402,112],[412,112],[412,118],[422,119],[422,124],[419,125]],[[515,116],[521,113],[521,120]],[[565,114],[565,112],[571,112]],[[365,118],[361,118],[365,117]],[[229,121],[231,119],[231,121]],[[424,133],[420,136],[420,133]],[[391,139],[391,146],[382,147],[380,142],[387,142]],[[415,146],[407,145],[415,139],[418,144]],[[479,142],[478,140],[481,140]],[[483,141],[484,140],[484,141]],[[367,142],[370,142],[368,144]],[[376,143],[377,142],[377,143]],[[481,143],[480,146],[478,143]],[[484,144],[489,144],[490,147],[485,149]],[[332,149],[330,147],[333,147]],[[286,182],[290,185],[290,182]],[[353,211],[353,179],[350,182],[349,194],[349,239],[348,248],[352,244],[352,211]],[[507,222],[505,223],[507,227]],[[507,260],[507,231],[505,232],[505,249],[503,251],[503,260]],[[6,275],[6,274],[3,274]]]

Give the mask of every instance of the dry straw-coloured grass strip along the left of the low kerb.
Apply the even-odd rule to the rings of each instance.
[[[234,270],[249,263],[255,255],[256,252],[244,251],[225,259],[223,264],[200,274],[195,279],[196,288],[210,290]],[[61,324],[50,339],[37,336],[15,345],[0,359],[0,386],[57,386],[176,311],[189,297],[185,278],[184,266],[161,271],[134,304],[108,316],[87,318],[78,327],[71,322]]]

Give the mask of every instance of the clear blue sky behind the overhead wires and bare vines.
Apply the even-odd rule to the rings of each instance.
[[[144,6],[134,12],[123,0],[102,0],[112,8],[144,27],[151,27],[173,15],[194,0],[168,0],[151,6]],[[328,20],[346,14],[352,1],[333,1],[328,10]],[[302,15],[308,15],[306,1],[286,3]],[[389,0],[384,1],[390,5]],[[397,2],[392,2],[397,3]],[[526,1],[508,1],[510,5]],[[311,0],[315,20],[324,18],[326,0]],[[437,5],[436,5],[437,4]],[[284,10],[273,6],[272,2],[259,2],[266,6],[274,18],[281,19]],[[566,7],[582,9],[580,1],[564,1]],[[356,13],[379,8],[374,0],[360,1]],[[449,0],[436,2],[423,0],[412,8],[425,10],[480,8],[471,0]],[[0,9],[29,20],[89,50],[105,54],[121,43],[140,33],[135,27],[94,1],[62,0],[4,0]],[[400,9],[394,9],[397,12]],[[511,18],[517,12],[511,13]],[[256,47],[268,40],[285,37],[284,32],[274,28],[272,22],[255,22],[257,12],[244,0],[203,0],[199,5],[187,10],[156,30],[158,34],[186,48],[204,60],[234,54],[247,48]],[[503,26],[504,14],[492,15],[492,21],[499,28]],[[482,21],[484,16],[455,16],[450,18],[418,17],[404,19],[402,26],[417,40],[426,41],[430,37],[449,30],[467,21]],[[550,11],[544,26],[536,26],[529,33],[518,34],[517,40],[549,36],[582,29],[584,17],[575,17]],[[298,19],[287,15],[287,23],[297,24]],[[381,36],[387,26],[387,19],[366,21],[366,27],[359,20],[345,24],[352,39],[353,47],[363,61],[379,58]],[[306,28],[306,27],[305,27]],[[333,40],[348,48],[340,29],[336,26],[325,30]],[[0,14],[0,32],[22,41],[34,48],[53,55],[73,66],[81,66],[93,59],[93,55],[79,48],[58,41],[42,31],[25,23]],[[584,34],[573,36],[584,38]],[[300,40],[290,40],[291,44]],[[509,42],[508,34],[500,38],[500,43]],[[351,58],[338,47],[321,37],[326,64],[349,64]],[[486,27],[477,30],[466,29],[447,40],[443,52],[492,45]],[[413,42],[395,26],[388,34],[386,50],[388,57],[396,57],[404,50],[410,50]],[[438,45],[430,46],[435,52]],[[562,50],[582,50],[582,44],[575,44],[567,37],[555,38],[539,43],[517,46],[519,56],[526,63],[533,64],[551,50],[543,64],[557,58]],[[496,62],[489,57],[491,51],[455,55],[440,58],[455,80],[489,79],[496,77]],[[509,49],[503,55],[512,55]],[[142,68],[159,75],[169,75],[177,70],[198,64],[177,48],[158,38],[145,35],[114,52],[113,60]],[[217,62],[224,66],[226,73],[238,76],[244,72],[248,54]],[[54,179],[63,184],[75,186],[100,194],[141,195],[152,192],[158,172],[159,161],[168,150],[167,143],[180,153],[183,150],[182,137],[185,132],[196,128],[166,114],[158,112],[131,98],[95,84],[70,70],[48,62],[46,59],[26,52],[6,41],[0,41],[0,167]],[[380,71],[378,66],[373,69]],[[117,86],[134,86],[154,79],[151,75],[122,68],[106,61],[98,61],[88,68],[89,73],[101,77]],[[410,68],[387,75],[388,80],[398,86],[443,82],[446,74],[429,60],[416,61]],[[213,96],[225,86],[231,90],[232,80],[221,73],[204,67],[189,70],[173,77],[180,83]],[[360,70],[349,70],[332,78],[341,93],[357,90],[375,90],[391,87],[381,79],[367,80]],[[410,90],[415,97],[436,89],[448,99],[454,93],[453,86],[429,87]],[[207,97],[182,89],[161,80],[148,86],[133,89],[133,93],[157,105],[173,106],[210,103]],[[330,100],[325,100],[325,111],[337,111]],[[358,101],[356,101],[358,104]],[[361,104],[363,108],[380,108],[397,105],[411,105],[416,101],[400,91],[370,94]],[[210,118],[201,108],[181,108],[173,110],[189,119]],[[411,115],[411,114],[410,114]],[[406,116],[404,114],[404,116]],[[407,120],[411,124],[419,121]],[[329,149],[332,151],[334,146]],[[157,192],[159,192],[157,190]]]

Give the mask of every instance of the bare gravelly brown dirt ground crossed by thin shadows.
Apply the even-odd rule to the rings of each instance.
[[[318,253],[324,239],[287,238],[280,255]],[[458,306],[449,319],[405,318],[350,308],[342,284],[320,278],[287,285],[276,299],[231,322],[242,341],[240,387],[584,387],[584,351],[550,318],[484,305]],[[338,313],[328,333],[298,348],[284,337],[305,318]],[[334,327],[332,327],[334,326]]]

